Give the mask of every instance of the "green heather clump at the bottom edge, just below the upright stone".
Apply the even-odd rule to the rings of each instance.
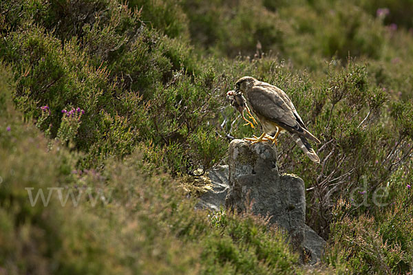
[[[291,263],[297,263],[297,255],[279,246],[285,240],[274,234],[274,227],[268,228],[268,221],[251,213],[244,213],[239,220],[221,210],[211,215],[211,222],[217,228],[214,234],[220,234],[220,238],[211,238],[205,243],[206,274],[219,272],[214,263],[224,266],[236,263],[235,269],[225,268],[226,272],[235,274],[289,274]],[[243,245],[238,245],[240,243]],[[262,265],[262,261],[268,266]]]

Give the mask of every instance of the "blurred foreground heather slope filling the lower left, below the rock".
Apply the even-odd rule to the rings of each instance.
[[[222,212],[226,222],[215,226],[138,152],[105,159],[100,171],[76,168],[76,153],[48,148],[23,122],[11,74],[1,67],[0,75],[0,265],[8,274],[301,273],[282,232],[248,213]]]

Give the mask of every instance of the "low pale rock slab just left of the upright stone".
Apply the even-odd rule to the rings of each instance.
[[[211,179],[211,190],[208,190],[200,197],[200,201],[195,206],[198,209],[220,210],[225,208],[226,192],[229,188],[228,165],[218,166],[209,170],[208,177]]]

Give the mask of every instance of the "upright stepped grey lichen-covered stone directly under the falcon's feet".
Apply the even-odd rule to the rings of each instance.
[[[271,217],[270,223],[289,233],[293,247],[302,248],[306,217],[304,181],[279,175],[277,153],[269,142],[231,142],[229,184],[227,208],[242,212],[251,202],[253,213]]]

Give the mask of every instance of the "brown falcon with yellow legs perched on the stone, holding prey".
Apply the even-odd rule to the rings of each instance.
[[[246,138],[246,140],[250,140],[253,143],[271,140],[273,143],[276,143],[279,133],[287,131],[313,162],[320,162],[318,155],[308,140],[313,140],[318,144],[320,141],[307,130],[293,102],[291,102],[282,89],[258,81],[251,76],[244,76],[235,83],[235,95],[237,95],[238,100],[240,100],[239,97],[242,95],[241,98],[245,100],[246,107],[249,107],[255,113],[264,130],[260,137],[254,136]],[[237,97],[234,96],[234,98]],[[238,105],[242,108],[242,102],[238,102]],[[274,132],[275,135],[271,137],[271,133]]]

